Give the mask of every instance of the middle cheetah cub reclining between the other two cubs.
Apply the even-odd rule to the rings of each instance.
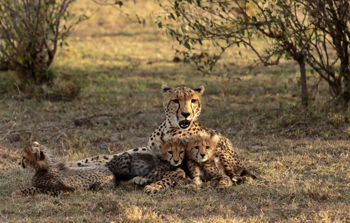
[[[158,193],[170,189],[174,184],[186,185],[179,168],[185,156],[185,146],[180,138],[155,139],[158,151],[144,153],[123,153],[114,157],[106,167],[116,176],[117,181],[129,180],[140,186],[147,185],[145,193]]]

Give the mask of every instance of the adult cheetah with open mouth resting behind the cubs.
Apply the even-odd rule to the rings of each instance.
[[[163,137],[184,137],[207,132],[211,135],[217,135],[219,137],[215,157],[221,160],[225,173],[231,179],[236,179],[236,177],[245,175],[246,173],[242,171],[245,168],[243,168],[242,164],[237,159],[230,140],[221,135],[218,131],[204,128],[199,122],[196,121],[201,114],[202,94],[204,92],[204,87],[200,86],[195,89],[188,87],[176,87],[172,89],[167,85],[163,85],[161,89],[164,96],[163,107],[166,114],[165,120],[149,136],[147,147],[135,148],[126,152],[133,153],[154,150],[156,147],[156,138],[162,139]],[[105,165],[113,157],[121,154],[123,153],[90,157],[71,162],[71,165]]]

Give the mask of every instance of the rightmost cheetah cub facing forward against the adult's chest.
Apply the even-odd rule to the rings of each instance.
[[[192,181],[186,187],[200,186],[203,181],[217,179],[216,186],[218,191],[232,185],[224,168],[221,167],[217,158],[213,156],[216,152],[216,145],[219,137],[211,136],[208,133],[201,133],[193,136],[184,136],[183,144],[186,145],[187,167]]]

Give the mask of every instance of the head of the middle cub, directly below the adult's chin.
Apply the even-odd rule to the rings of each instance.
[[[181,164],[185,157],[185,146],[180,138],[169,137],[163,139],[163,141],[160,138],[156,138],[155,142],[164,160],[169,161],[173,166]]]

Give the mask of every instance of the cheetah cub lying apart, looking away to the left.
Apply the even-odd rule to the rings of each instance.
[[[34,142],[23,150],[21,169],[34,169],[31,186],[17,190],[12,196],[44,193],[57,195],[59,191],[76,189],[98,189],[116,186],[111,171],[101,166],[70,167],[58,161],[54,153],[43,145]]]

